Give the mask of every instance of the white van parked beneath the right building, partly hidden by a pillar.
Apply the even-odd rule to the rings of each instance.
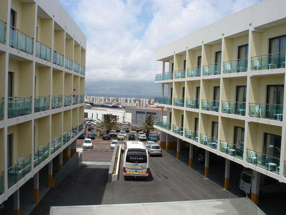
[[[240,181],[239,181],[239,189],[251,193],[251,185],[253,180],[252,170],[244,170],[241,173]],[[286,193],[286,184],[281,183],[278,180],[269,177],[264,174],[260,174],[259,180],[259,196],[262,197],[268,193]]]

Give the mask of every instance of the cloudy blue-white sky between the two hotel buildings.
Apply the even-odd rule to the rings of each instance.
[[[60,0],[87,36],[86,78],[94,81],[154,81],[156,49],[258,1]]]

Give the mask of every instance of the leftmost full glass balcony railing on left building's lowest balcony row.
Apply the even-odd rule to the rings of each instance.
[[[25,177],[31,171],[31,157],[29,155],[7,169],[8,189]]]

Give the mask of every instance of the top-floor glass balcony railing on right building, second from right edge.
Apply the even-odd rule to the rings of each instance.
[[[248,58],[231,60],[223,63],[223,74],[246,72]]]

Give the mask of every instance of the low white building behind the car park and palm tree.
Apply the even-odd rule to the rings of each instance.
[[[118,122],[123,122],[123,121],[131,122],[132,119],[132,114],[126,113],[121,108],[94,107],[91,109],[84,109],[84,118],[91,117],[94,120],[103,119],[104,115],[106,114],[112,114]]]

